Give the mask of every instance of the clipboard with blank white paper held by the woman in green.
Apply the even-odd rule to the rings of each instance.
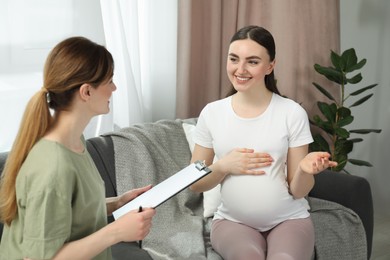
[[[138,210],[139,207],[156,208],[210,172],[204,162],[196,161],[129,201],[112,215],[118,219],[131,210]]]

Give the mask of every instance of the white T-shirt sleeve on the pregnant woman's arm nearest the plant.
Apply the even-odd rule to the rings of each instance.
[[[313,142],[305,109],[294,103],[292,111],[293,113],[288,117],[289,147],[298,147]]]

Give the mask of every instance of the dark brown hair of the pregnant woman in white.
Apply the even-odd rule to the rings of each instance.
[[[251,39],[263,46],[270,56],[271,61],[275,59],[275,41],[272,34],[263,27],[256,25],[249,25],[238,30],[230,40],[230,43],[237,40]],[[268,90],[280,95],[278,88],[276,87],[276,80],[274,71],[265,76],[265,86]],[[233,95],[237,90],[232,87],[227,96]]]

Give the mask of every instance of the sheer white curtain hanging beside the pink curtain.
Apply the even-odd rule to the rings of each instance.
[[[153,104],[158,98],[155,94],[163,86],[161,75],[170,74],[169,80],[173,81],[170,90],[175,92],[176,38],[156,38],[162,33],[161,25],[170,19],[173,22],[164,30],[176,34],[176,1],[164,1],[162,5],[155,0],[100,0],[106,46],[115,61],[114,82],[117,91],[113,94],[111,110],[115,127],[174,117],[174,112],[171,112],[175,110],[174,107],[169,109],[167,116],[153,111]],[[173,57],[170,57],[173,58],[171,62],[174,66],[162,66],[158,69],[155,64],[164,59],[162,55],[165,55],[167,50],[158,50],[159,45],[156,44],[167,40],[170,41],[168,51],[174,51]],[[175,93],[172,94],[167,96],[175,97]],[[164,107],[159,105],[156,109],[164,110]],[[105,125],[107,123],[104,122]]]

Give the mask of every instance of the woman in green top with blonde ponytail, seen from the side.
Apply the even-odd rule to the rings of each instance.
[[[154,209],[107,225],[107,215],[150,186],[106,199],[83,138],[90,119],[109,112],[113,72],[111,54],[83,37],[49,54],[2,174],[0,259],[106,260],[111,245],[149,233]]]

